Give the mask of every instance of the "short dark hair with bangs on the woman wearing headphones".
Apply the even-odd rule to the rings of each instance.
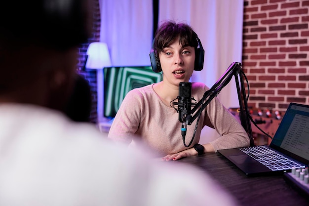
[[[182,46],[192,46],[197,48],[197,35],[192,27],[185,23],[166,21],[157,29],[154,36],[154,51],[158,55],[163,49],[179,38]]]

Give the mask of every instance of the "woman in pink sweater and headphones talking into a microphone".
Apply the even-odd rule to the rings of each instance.
[[[165,161],[249,146],[246,131],[217,98],[202,111],[194,138],[197,119],[187,126],[187,137],[183,142],[179,114],[170,104],[179,95],[179,83],[189,82],[193,70],[202,69],[200,59],[203,60],[204,53],[199,50],[199,44],[197,35],[187,24],[167,21],[158,28],[151,61],[154,72],[162,71],[163,80],[133,89],[125,96],[109,138],[127,144],[141,140]],[[192,96],[196,101],[202,99],[207,90],[209,88],[203,83],[192,83]],[[199,145],[200,133],[205,125],[216,129],[221,137]],[[191,145],[192,138],[193,146],[187,147]]]

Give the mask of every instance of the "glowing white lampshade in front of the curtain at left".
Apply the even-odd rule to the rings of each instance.
[[[109,49],[104,42],[90,43],[87,55],[86,69],[103,69],[112,66]]]

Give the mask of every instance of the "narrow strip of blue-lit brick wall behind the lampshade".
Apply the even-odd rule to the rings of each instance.
[[[99,1],[94,0],[94,13],[93,13],[93,25],[92,25],[92,36],[89,38],[87,43],[81,44],[78,48],[79,57],[77,60],[77,73],[82,75],[85,79],[87,79],[90,83],[91,93],[92,93],[92,107],[91,107],[91,115],[90,121],[92,123],[97,122],[97,74],[96,70],[83,70],[86,52],[89,43],[100,41],[100,25],[101,25],[101,16],[100,16],[100,8]]]

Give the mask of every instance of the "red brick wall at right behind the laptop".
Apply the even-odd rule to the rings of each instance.
[[[244,0],[243,18],[248,105],[309,104],[309,0]]]

